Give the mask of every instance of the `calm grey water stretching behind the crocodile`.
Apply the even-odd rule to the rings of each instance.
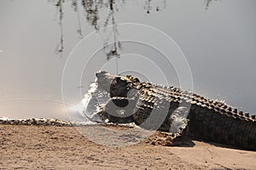
[[[116,0],[112,7],[109,4],[112,1],[92,2],[0,2],[0,116],[63,119],[73,116],[73,119],[82,120],[79,116],[81,100],[95,79],[95,71],[92,70],[96,66],[90,65],[91,71],[80,73],[81,83],[74,83],[73,90],[81,95],[70,99],[67,107],[62,104],[62,72],[77,43],[105,25],[117,24],[110,27],[109,32],[97,31],[99,41],[90,42],[91,47],[99,48],[96,56],[102,56],[99,63],[106,63],[104,68],[109,68],[112,73],[130,73],[142,80],[149,77],[150,81],[165,83],[158,79],[157,68],[154,69],[152,63],[135,54],[130,54],[129,58],[121,55],[116,69],[115,57],[124,53],[122,50],[131,52],[130,49],[139,47],[130,42],[119,44],[119,37],[125,34],[119,32],[121,23],[139,23],[165,32],[186,56],[196,93],[224,99],[243,111],[255,112],[255,1],[212,1],[208,8],[207,2],[210,1],[204,0]],[[130,30],[131,35],[137,33]],[[109,38],[117,43],[108,46]],[[165,46],[161,42],[158,44]],[[146,51],[145,55],[149,50],[137,48],[137,52]],[[87,52],[79,51],[85,61],[90,59]],[[71,56],[76,57],[76,53],[73,51]],[[150,52],[153,53],[155,58],[159,56]],[[130,70],[129,65],[133,65]],[[144,67],[147,69],[143,70]],[[138,74],[134,68],[145,72]],[[175,70],[171,67],[170,75],[173,75],[173,85],[179,86]]]

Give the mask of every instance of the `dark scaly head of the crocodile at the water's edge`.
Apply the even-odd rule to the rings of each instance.
[[[101,90],[107,92],[110,99],[98,114],[103,121],[133,122],[132,114],[138,99],[138,90],[134,85],[139,82],[137,78],[127,76],[112,76],[107,71],[96,72],[96,84]]]

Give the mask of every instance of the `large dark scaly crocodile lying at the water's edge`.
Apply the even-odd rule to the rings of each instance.
[[[256,119],[224,102],[131,76],[96,72],[96,85],[109,99],[97,116],[114,123],[134,122],[149,130],[189,136],[256,150]]]

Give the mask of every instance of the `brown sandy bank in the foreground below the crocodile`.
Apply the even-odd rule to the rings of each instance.
[[[163,146],[159,132],[125,147],[96,144],[75,127],[0,125],[0,134],[0,169],[256,169],[255,151]]]

